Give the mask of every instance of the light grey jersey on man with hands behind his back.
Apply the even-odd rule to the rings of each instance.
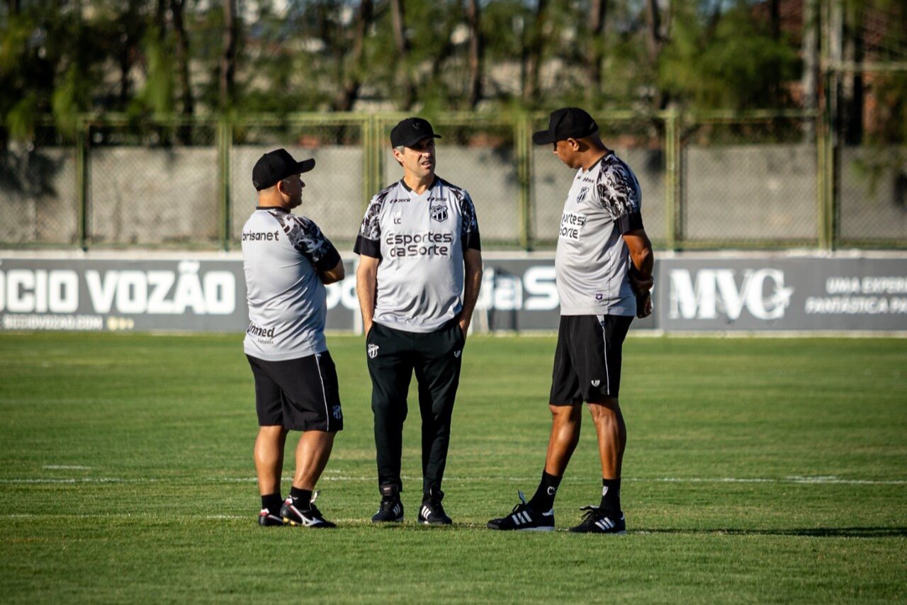
[[[561,315],[636,315],[621,236],[643,228],[641,204],[636,175],[613,152],[577,171],[554,259]]]

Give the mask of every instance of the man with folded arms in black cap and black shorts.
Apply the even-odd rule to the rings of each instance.
[[[334,362],[325,342],[325,284],[344,278],[343,261],[312,221],[290,213],[302,203],[301,174],[315,160],[283,149],[256,162],[258,208],[242,228],[249,328],[243,348],[255,376],[255,469],[259,525],[334,527],[315,506],[315,483],[334,434],[343,429]],[[302,431],[289,497],[280,497],[288,431]]]

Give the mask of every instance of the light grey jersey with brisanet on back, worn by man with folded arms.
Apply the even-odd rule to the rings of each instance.
[[[242,228],[249,328],[243,347],[283,361],[322,353],[327,316],[320,271],[340,261],[334,244],[305,217],[258,207]]]

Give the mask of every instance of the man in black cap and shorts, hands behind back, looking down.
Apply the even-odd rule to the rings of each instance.
[[[595,424],[601,458],[601,502],[587,506],[571,532],[624,533],[620,464],[627,428],[618,404],[620,349],[633,316],[652,312],[654,257],[642,226],[639,181],[605,147],[598,124],[577,107],[551,112],[548,130],[532,141],[551,145],[577,171],[561,216],[555,275],[561,327],[551,379],[552,424],[545,468],[529,502],[488,522],[493,530],[554,529],[554,497],[580,439],[581,406]]]

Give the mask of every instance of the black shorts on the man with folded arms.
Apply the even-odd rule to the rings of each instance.
[[[328,433],[343,430],[337,373],[330,353],[284,361],[247,357],[255,376],[259,426]]]

